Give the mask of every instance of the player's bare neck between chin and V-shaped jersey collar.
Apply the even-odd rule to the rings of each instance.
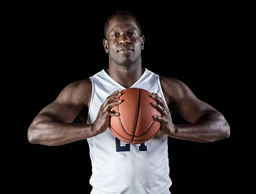
[[[130,88],[143,74],[141,66],[109,66],[108,75],[125,88]]]

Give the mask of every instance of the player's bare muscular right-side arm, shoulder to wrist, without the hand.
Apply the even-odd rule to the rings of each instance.
[[[198,142],[213,142],[228,138],[230,127],[223,114],[198,99],[181,81],[161,78],[167,103],[174,103],[178,113],[189,124],[175,124],[169,136]]]

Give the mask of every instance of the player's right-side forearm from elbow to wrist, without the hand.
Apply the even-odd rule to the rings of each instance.
[[[175,132],[169,136],[190,141],[213,142],[230,135],[227,121],[218,112],[207,113],[195,123],[177,124],[175,127]]]

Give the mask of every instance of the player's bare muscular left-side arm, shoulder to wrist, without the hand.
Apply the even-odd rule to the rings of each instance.
[[[28,141],[58,146],[95,136],[91,124],[72,123],[83,108],[88,108],[91,93],[89,79],[66,86],[56,100],[34,118],[28,128]]]

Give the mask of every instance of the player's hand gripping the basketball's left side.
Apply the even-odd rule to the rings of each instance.
[[[102,134],[108,129],[110,116],[119,116],[119,113],[110,111],[112,107],[122,102],[121,100],[114,101],[116,98],[121,96],[121,93],[118,93],[118,91],[115,91],[108,96],[105,102],[100,106],[97,118],[92,123],[93,130],[96,134]]]

